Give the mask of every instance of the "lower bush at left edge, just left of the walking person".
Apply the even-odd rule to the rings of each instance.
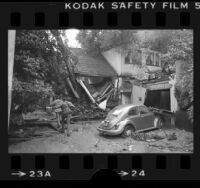
[[[21,124],[22,113],[48,105],[52,94],[52,88],[42,81],[22,82],[14,77],[10,124]]]

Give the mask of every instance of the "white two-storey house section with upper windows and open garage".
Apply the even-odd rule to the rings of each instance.
[[[145,48],[125,51],[117,47],[102,54],[117,72],[121,104],[177,110],[175,82],[162,71],[159,52]]]

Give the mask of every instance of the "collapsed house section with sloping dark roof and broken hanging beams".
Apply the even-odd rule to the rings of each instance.
[[[77,57],[77,82],[91,102],[105,110],[107,101],[116,93],[117,73],[101,54],[88,54],[81,48],[71,48],[71,52]]]

